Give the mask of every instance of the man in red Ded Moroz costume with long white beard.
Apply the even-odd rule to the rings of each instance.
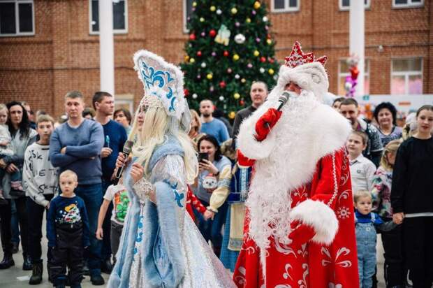
[[[237,287],[358,287],[353,200],[344,143],[350,124],[321,103],[326,58],[298,42],[281,66],[277,87],[245,120],[239,160],[254,164]],[[293,92],[278,113],[289,82]],[[264,124],[267,123],[267,124]],[[259,140],[258,140],[259,139]]]

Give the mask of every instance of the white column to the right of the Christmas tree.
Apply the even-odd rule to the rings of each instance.
[[[349,11],[349,53],[360,58],[358,63],[358,85],[355,96],[364,96],[364,65],[365,65],[365,18],[364,0],[351,0]]]

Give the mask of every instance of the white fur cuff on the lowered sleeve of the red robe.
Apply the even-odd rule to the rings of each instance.
[[[313,226],[316,235],[311,239],[315,243],[329,245],[338,230],[338,219],[328,205],[321,201],[307,199],[293,208],[292,220]]]

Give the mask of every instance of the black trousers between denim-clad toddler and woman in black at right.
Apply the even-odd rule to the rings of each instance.
[[[392,221],[392,219],[383,219]],[[387,232],[381,232],[385,263],[383,275],[385,275],[386,287],[402,286],[406,281],[406,269],[403,263],[403,236],[402,225]]]

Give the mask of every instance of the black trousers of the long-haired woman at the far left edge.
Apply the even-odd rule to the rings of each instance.
[[[0,236],[1,236],[1,247],[3,249],[4,254],[12,254],[12,232],[10,230],[10,219],[12,217],[11,209],[10,209],[10,199],[8,200],[8,204],[1,206],[0,208]],[[27,211],[26,211],[26,197],[20,197],[15,199],[15,206],[17,208],[17,216],[18,223],[20,224],[20,232],[21,232],[21,246],[22,246],[22,254],[27,256],[29,254],[29,223],[27,221]]]

